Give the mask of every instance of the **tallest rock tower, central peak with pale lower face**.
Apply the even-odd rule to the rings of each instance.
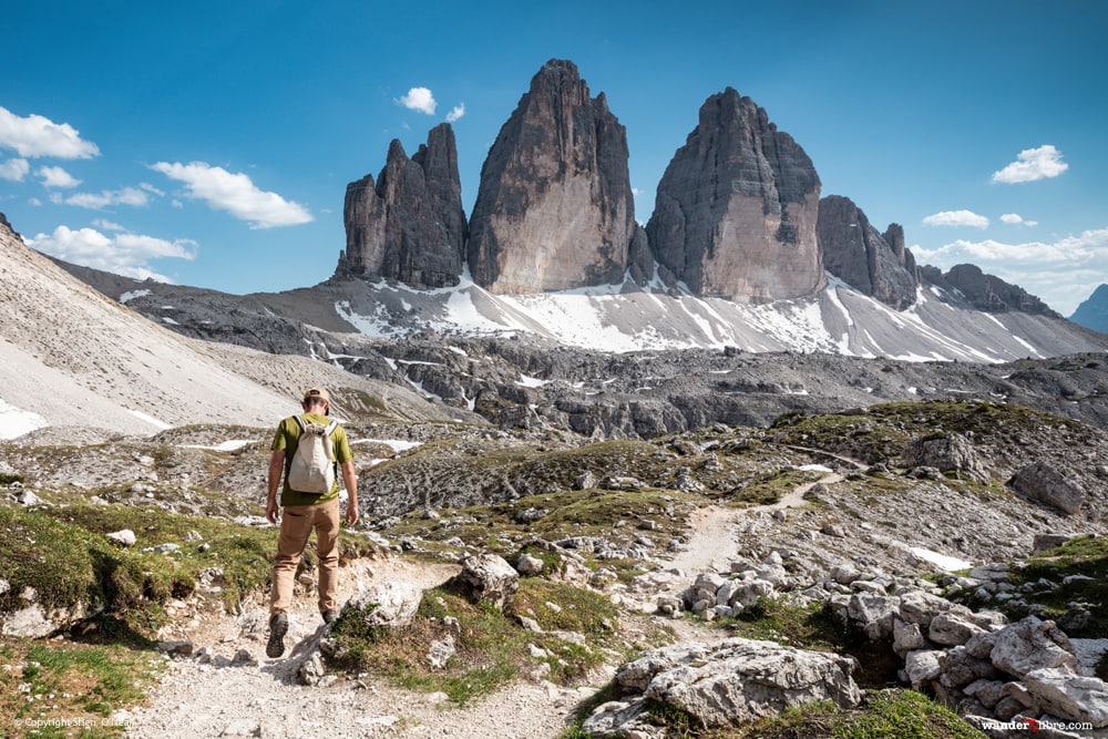
[[[474,281],[501,294],[618,281],[635,228],[624,126],[573,62],[548,61],[481,168]]]

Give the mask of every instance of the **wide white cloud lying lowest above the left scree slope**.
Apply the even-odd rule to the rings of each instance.
[[[31,248],[65,261],[136,279],[148,277],[162,283],[173,280],[157,274],[150,265],[152,259],[196,258],[196,243],[188,239],[167,242],[131,233],[106,236],[95,228],[74,230],[68,226],[58,226],[52,234],[39,234],[25,240]]]

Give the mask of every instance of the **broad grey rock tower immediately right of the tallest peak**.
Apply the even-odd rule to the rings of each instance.
[[[698,295],[739,302],[811,295],[825,283],[819,198],[804,150],[728,88],[700,107],[658,184],[650,248]]]

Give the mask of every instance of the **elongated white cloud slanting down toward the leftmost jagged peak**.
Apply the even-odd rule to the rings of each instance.
[[[188,197],[199,198],[213,208],[247,220],[250,228],[295,226],[314,219],[302,205],[286,201],[277,193],[258,189],[242,173],[227,172],[206,162],[158,162],[151,165],[151,168],[171,179],[185,183]]]

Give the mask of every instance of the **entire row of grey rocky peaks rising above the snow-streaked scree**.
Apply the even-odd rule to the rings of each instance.
[[[411,158],[393,140],[377,181],[347,186],[336,275],[438,288],[458,285],[468,266],[496,294],[619,284],[626,275],[767,302],[818,292],[827,270],[897,310],[925,280],[962,289],[979,309],[1049,312],[976,268],[917,268],[901,226],[880,233],[850,199],[820,199],[820,186],[804,150],[727,88],[701,105],[643,228],[626,130],[573,62],[551,60],[490,147],[470,218],[450,124],[432,129]]]

